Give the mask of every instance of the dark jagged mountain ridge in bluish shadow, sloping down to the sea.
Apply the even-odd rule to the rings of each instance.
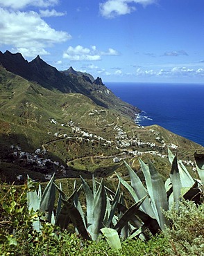
[[[131,118],[135,118],[135,113],[139,111],[110,92],[103,84],[101,77],[94,80],[89,73],[75,71],[72,66],[67,71],[58,71],[57,68],[44,62],[40,55],[31,62],[27,62],[20,53],[12,54],[9,51],[0,54],[0,63],[7,71],[20,75],[26,80],[37,82],[51,91],[81,93],[92,99],[95,104],[115,109]]]

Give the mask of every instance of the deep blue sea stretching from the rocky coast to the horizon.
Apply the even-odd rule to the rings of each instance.
[[[106,82],[121,100],[142,110],[139,125],[160,125],[204,146],[204,84]]]

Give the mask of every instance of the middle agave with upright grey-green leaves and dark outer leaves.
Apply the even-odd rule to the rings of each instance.
[[[67,198],[67,196],[59,189],[58,191],[62,195],[62,202],[64,203],[57,224],[60,225],[63,220],[69,219],[78,232],[85,239],[92,239],[96,241],[99,238],[101,232],[114,232],[117,231],[118,235],[121,234],[124,226],[133,217],[135,210],[143,203],[145,198],[137,201],[129,209],[125,209],[121,217],[117,216],[117,208],[119,200],[121,200],[120,183],[118,184],[117,191],[115,193],[108,190],[101,179],[99,188],[96,188],[96,181],[92,179],[92,190],[87,182],[80,177],[82,181],[83,190],[86,198],[86,210],[83,208],[78,200],[80,190],[74,190],[74,193]],[[114,194],[112,199],[108,196],[108,192]],[[67,228],[69,221],[65,221],[65,225],[61,226]],[[113,231],[114,230],[114,231]]]

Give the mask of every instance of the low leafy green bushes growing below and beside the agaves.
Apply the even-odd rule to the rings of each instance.
[[[1,196],[2,196],[1,187]],[[1,197],[0,252],[1,255],[202,255],[204,244],[204,205],[196,206],[192,201],[182,201],[179,211],[167,211],[171,221],[161,235],[148,241],[126,239],[120,250],[112,250],[105,239],[89,241],[60,231],[57,226],[42,221],[42,232],[33,229],[36,212],[23,208],[26,190],[18,193],[14,187]],[[14,205],[10,199],[17,203]],[[3,199],[3,200],[2,200]],[[7,206],[3,201],[7,201]],[[21,207],[20,207],[21,206]],[[19,208],[23,208],[19,217]],[[40,216],[38,212],[38,216]]]

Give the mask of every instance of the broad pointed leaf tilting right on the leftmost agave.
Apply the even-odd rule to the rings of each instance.
[[[53,212],[54,203],[56,199],[56,189],[53,183],[54,181],[54,174],[46,185],[46,188],[42,194],[42,199],[40,202],[40,211],[46,212],[46,219],[51,222],[51,214]]]

